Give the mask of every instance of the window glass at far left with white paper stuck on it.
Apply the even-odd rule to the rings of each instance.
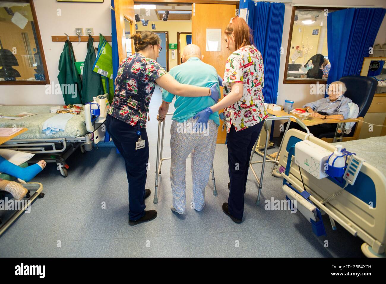
[[[29,3],[2,2],[0,81],[45,81]]]

